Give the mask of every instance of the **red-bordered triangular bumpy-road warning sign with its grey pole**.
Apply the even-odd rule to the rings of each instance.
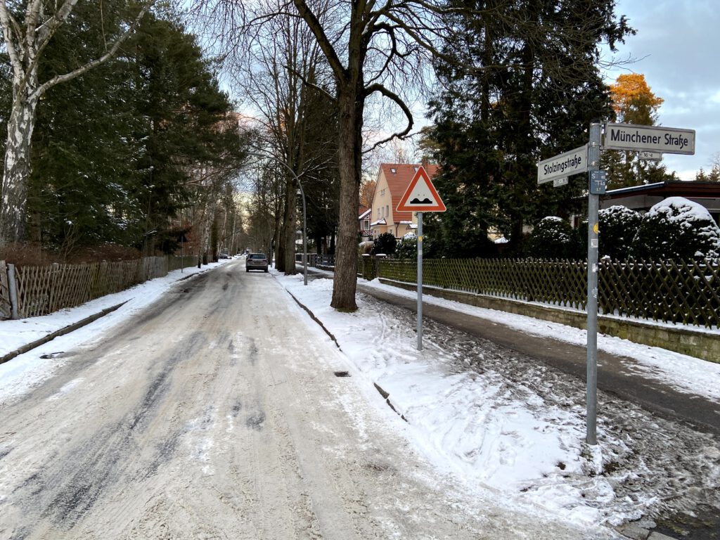
[[[418,212],[418,351],[423,350],[423,212],[445,212],[442,202],[425,167],[420,166],[410,180],[395,209],[398,212]]]

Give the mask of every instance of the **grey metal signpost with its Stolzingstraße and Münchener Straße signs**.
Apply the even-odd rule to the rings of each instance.
[[[570,174],[588,172],[588,389],[585,441],[597,444],[598,412],[598,247],[600,195],[605,194],[606,171],[600,171],[600,150],[631,150],[641,159],[659,160],[662,153],[694,154],[695,131],[606,122],[590,124],[587,145],[538,163],[538,184],[567,184]]]

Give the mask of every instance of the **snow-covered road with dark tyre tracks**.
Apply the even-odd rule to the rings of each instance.
[[[379,395],[336,377],[356,370],[276,279],[240,264],[55,360],[0,406],[0,539],[613,536],[438,471]]]

